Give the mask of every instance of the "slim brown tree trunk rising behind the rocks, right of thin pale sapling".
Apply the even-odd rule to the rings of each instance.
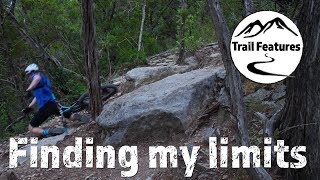
[[[183,64],[183,60],[185,58],[185,39],[184,39],[184,31],[185,31],[185,11],[187,9],[187,2],[186,0],[181,0],[181,10],[182,14],[180,17],[180,48],[179,48],[179,58],[177,60],[177,64]]]

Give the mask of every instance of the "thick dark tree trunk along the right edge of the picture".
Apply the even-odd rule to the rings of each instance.
[[[282,138],[286,145],[306,146],[307,166],[286,170],[287,179],[320,177],[320,1],[304,1],[298,20],[304,52],[295,78],[287,79]],[[287,153],[288,154],[288,153]]]

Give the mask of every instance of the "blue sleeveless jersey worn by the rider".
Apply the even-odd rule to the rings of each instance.
[[[41,80],[37,84],[37,86],[33,89],[33,95],[37,99],[38,110],[41,109],[47,102],[54,101],[54,95],[51,90],[51,83],[49,79],[41,74],[35,73],[31,76],[31,80],[34,79],[36,75],[40,75]]]

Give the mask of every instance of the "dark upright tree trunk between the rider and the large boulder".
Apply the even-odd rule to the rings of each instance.
[[[93,0],[82,0],[82,33],[84,45],[84,57],[88,79],[90,111],[92,118],[101,113],[102,100],[98,62],[96,56],[96,27],[93,15]]]

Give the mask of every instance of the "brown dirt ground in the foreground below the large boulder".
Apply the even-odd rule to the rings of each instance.
[[[246,172],[243,169],[232,168],[209,168],[209,146],[208,141],[204,139],[204,134],[209,127],[218,127],[221,137],[229,137],[229,146],[236,145],[237,140],[235,136],[235,124],[226,118],[225,110],[221,110],[221,107],[206,112],[194,123],[185,133],[177,133],[163,139],[149,139],[143,140],[137,139],[136,142],[130,142],[128,146],[137,146],[138,148],[138,173],[130,179],[184,179],[185,165],[182,157],[178,157],[178,168],[149,168],[149,146],[175,146],[177,149],[179,146],[200,146],[199,155],[197,157],[196,166],[193,171],[191,179],[249,179]],[[52,126],[55,122],[49,122],[46,126]],[[62,142],[59,142],[57,146],[60,149],[60,168],[52,169],[50,161],[48,169],[30,168],[29,162],[19,165],[16,169],[9,169],[13,171],[19,179],[123,179],[121,178],[121,171],[128,169],[122,168],[118,163],[117,151],[119,147],[115,147],[116,150],[116,168],[104,169],[85,168],[85,152],[83,152],[83,167],[78,169],[65,168],[62,163],[62,151],[66,146],[74,145],[75,137],[93,137],[94,145],[102,145],[101,129],[94,122],[89,124],[73,125],[77,130],[71,135],[65,137]],[[7,152],[8,142],[1,144],[0,152]],[[229,148],[231,149],[231,148]],[[83,150],[84,151],[84,150]],[[218,150],[219,151],[219,150]],[[51,157],[49,156],[49,159]],[[1,164],[5,165],[8,162],[8,153],[4,153],[1,156]],[[229,163],[231,167],[231,163]],[[39,163],[38,163],[39,165]]]

